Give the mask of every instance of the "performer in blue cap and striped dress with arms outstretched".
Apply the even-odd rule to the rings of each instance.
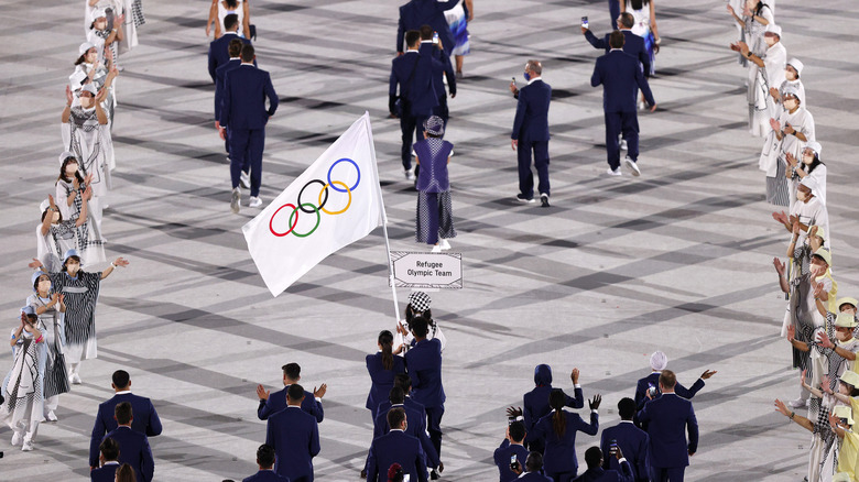
[[[75,250],[66,251],[63,267],[56,273],[46,273],[51,284],[65,295],[65,357],[68,362],[68,380],[79,385],[80,362],[98,355],[96,344],[96,304],[101,280],[110,276],[117,266],[128,266],[124,258],[117,258],[104,271],[91,273],[83,270],[80,255]],[[34,259],[32,269],[42,269],[42,262]],[[43,272],[43,271],[42,271]],[[44,273],[44,272],[43,272]]]

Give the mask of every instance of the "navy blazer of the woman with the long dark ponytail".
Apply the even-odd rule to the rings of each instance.
[[[599,416],[596,412],[590,413],[590,424],[586,424],[578,414],[564,412],[566,417],[566,429],[564,435],[558,437],[552,427],[552,416],[554,412],[541,418],[534,429],[528,434],[528,441],[545,439],[546,451],[543,453],[543,471],[545,473],[577,472],[578,460],[576,460],[576,432],[584,431],[587,435],[597,435],[599,430]]]

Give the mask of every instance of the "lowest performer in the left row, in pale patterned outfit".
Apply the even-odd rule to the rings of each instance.
[[[45,403],[45,327],[29,305],[21,308],[20,322],[9,340],[14,359],[0,386],[6,398],[0,406],[0,420],[12,429],[12,447],[30,451]]]

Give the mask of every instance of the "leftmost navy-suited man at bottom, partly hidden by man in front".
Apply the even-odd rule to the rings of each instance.
[[[112,379],[113,383],[110,386],[113,387],[116,395],[109,401],[99,404],[96,423],[93,425],[93,434],[89,438],[89,467],[91,469],[98,468],[99,446],[105,438],[105,434],[117,428],[115,408],[121,402],[131,404],[131,409],[134,413],[131,428],[134,431],[139,431],[146,437],[161,435],[161,419],[157,412],[155,412],[155,407],[149,398],[131,393],[131,377],[128,372],[117,370],[113,372]]]

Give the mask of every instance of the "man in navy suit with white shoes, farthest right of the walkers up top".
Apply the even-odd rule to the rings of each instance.
[[[651,112],[656,110],[656,101],[650,91],[648,79],[641,69],[638,58],[622,51],[624,35],[615,31],[609,36],[608,54],[597,58],[590,85],[602,85],[602,109],[606,118],[606,151],[608,153],[608,174],[620,176],[620,145],[618,136],[622,133],[627,140],[628,151],[624,163],[633,176],[640,176],[639,158],[639,119],[635,110],[637,88],[644,94],[644,99],[651,106]]]

